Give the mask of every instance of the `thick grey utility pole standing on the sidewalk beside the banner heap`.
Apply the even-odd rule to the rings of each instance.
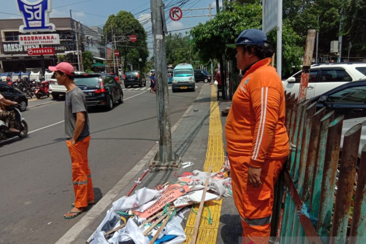
[[[168,100],[167,57],[165,53],[165,16],[162,0],[150,0],[152,33],[154,40],[154,63],[156,79],[156,103],[158,114],[159,152],[150,166],[178,167],[179,157],[172,151],[172,132]]]

